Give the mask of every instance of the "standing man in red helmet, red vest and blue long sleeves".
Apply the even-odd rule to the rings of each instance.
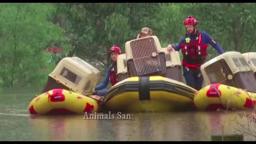
[[[196,90],[202,89],[203,76],[200,67],[203,65],[206,56],[207,44],[211,44],[220,54],[224,53],[222,47],[207,34],[205,31],[199,31],[196,28],[197,20],[189,16],[183,24],[186,28],[186,34],[180,38],[180,41],[175,45],[167,45],[167,51],[181,50],[182,71],[186,79],[187,85]]]

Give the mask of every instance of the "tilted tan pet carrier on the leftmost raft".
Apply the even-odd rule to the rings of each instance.
[[[90,95],[100,77],[100,71],[78,57],[63,58],[49,74],[42,93],[52,89],[66,89]]]

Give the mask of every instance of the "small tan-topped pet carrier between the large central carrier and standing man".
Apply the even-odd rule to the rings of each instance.
[[[166,77],[183,82],[179,52],[169,52],[166,48],[162,48],[161,52],[165,53]]]

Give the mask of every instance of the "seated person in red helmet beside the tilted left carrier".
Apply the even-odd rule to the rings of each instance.
[[[112,86],[117,83],[116,61],[117,61],[118,55],[121,54],[121,49],[119,46],[113,45],[110,47],[109,53],[113,63],[108,67],[107,73],[105,78],[103,79],[103,82],[94,87],[94,93],[99,94],[101,96],[104,96],[107,94],[108,90],[103,90],[103,89],[107,87],[109,82]]]

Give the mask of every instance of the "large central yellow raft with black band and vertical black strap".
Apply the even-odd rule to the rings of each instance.
[[[129,77],[117,83],[105,96],[108,111],[145,112],[193,109],[197,91],[162,76]]]

